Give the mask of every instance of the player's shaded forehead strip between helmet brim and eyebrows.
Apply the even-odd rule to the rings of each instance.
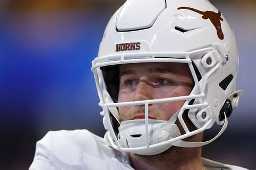
[[[190,74],[188,64],[186,63],[134,63],[122,64],[122,72],[171,72],[173,74]]]

